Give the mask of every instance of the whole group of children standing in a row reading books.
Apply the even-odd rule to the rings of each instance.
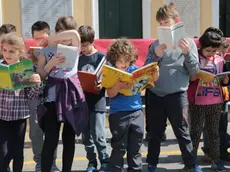
[[[169,27],[180,22],[175,5],[170,3],[160,7],[156,20],[161,26]],[[9,33],[15,31],[16,28],[12,25],[3,25],[0,28],[3,64],[10,65],[31,56],[25,52],[24,40],[15,33]],[[120,80],[107,90],[100,84],[95,85],[98,94],[86,93],[78,79],[78,70],[94,71],[105,56],[93,45],[94,30],[90,26],[77,28],[74,18],[68,16],[57,20],[54,35],[50,35],[50,27],[44,21],[34,23],[31,31],[35,43],[43,47],[38,57],[38,65],[34,66],[35,73],[38,74],[33,74],[30,78],[36,85],[20,91],[0,90],[0,171],[10,171],[11,160],[13,171],[22,171],[27,118],[30,118],[30,139],[36,172],[59,171],[55,160],[61,123],[64,123],[63,172],[71,171],[75,135],[79,134],[82,134],[89,161],[86,171],[93,172],[98,169],[97,154],[100,161],[99,171],[124,171],[123,157],[126,153],[128,171],[142,171],[140,149],[144,135],[144,113],[140,93],[134,96],[120,94],[121,89],[130,87]],[[225,125],[223,131],[219,128],[222,125],[219,123],[220,118],[224,121],[221,123],[227,122],[227,111],[224,115],[222,113],[223,106],[226,106],[222,86],[229,84],[229,78],[225,76],[221,82],[214,80],[207,83],[197,77],[200,69],[213,74],[224,70],[223,57],[218,55],[224,42],[226,43],[223,33],[210,27],[199,39],[199,51],[190,38],[182,38],[178,43],[179,49],[173,51],[168,51],[167,45],[159,44],[158,40],[150,45],[145,65],[158,62],[158,67],[154,71],[155,87],[148,88],[146,102],[146,161],[149,172],[157,169],[167,119],[179,143],[184,171],[202,171],[198,166],[197,149],[203,130],[206,131],[207,138],[203,150],[211,158],[212,169],[224,171],[220,160],[219,135],[221,132],[226,133],[227,126]],[[57,67],[65,62],[65,57],[57,54],[57,44],[81,49],[78,66],[76,63],[73,69]],[[227,44],[224,47],[228,46]],[[108,48],[106,60],[108,65],[129,73],[139,68],[135,66],[136,49],[127,39],[114,41]],[[105,91],[110,103],[110,156],[104,133]]]

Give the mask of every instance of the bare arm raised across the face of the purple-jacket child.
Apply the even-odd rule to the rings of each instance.
[[[81,38],[76,30],[67,30],[48,37],[48,45],[56,45],[63,40],[71,40],[71,46],[80,47],[81,45]]]

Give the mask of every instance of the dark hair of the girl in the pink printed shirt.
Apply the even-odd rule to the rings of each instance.
[[[222,44],[222,34],[220,29],[209,27],[199,39],[201,50],[207,47],[219,48]]]

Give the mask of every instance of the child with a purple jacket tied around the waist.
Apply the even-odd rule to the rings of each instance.
[[[60,17],[55,26],[56,37],[70,32],[71,37],[65,36],[69,41],[59,43],[80,47],[80,36],[76,31],[77,24],[72,16]],[[75,34],[75,36],[72,36]],[[60,36],[61,37],[61,36]],[[57,46],[52,45],[41,50],[38,58],[38,73],[47,78],[45,94],[45,112],[38,108],[40,126],[45,133],[41,156],[41,171],[51,170],[54,152],[59,141],[61,123],[64,122],[62,132],[63,166],[62,171],[71,171],[74,151],[75,134],[79,135],[87,123],[87,105],[77,76],[77,60],[73,69],[57,68],[65,61],[65,57],[56,54]]]

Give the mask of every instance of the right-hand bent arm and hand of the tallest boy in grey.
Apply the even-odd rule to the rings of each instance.
[[[180,41],[179,45],[180,47],[183,46],[185,49],[189,49],[189,51],[184,51],[182,48],[182,52],[184,54],[184,65],[186,69],[188,70],[189,75],[195,75],[199,72],[200,70],[200,63],[199,63],[199,58],[198,58],[198,51],[195,42],[186,40],[188,44],[184,45],[183,40]],[[190,48],[189,48],[190,47]]]

